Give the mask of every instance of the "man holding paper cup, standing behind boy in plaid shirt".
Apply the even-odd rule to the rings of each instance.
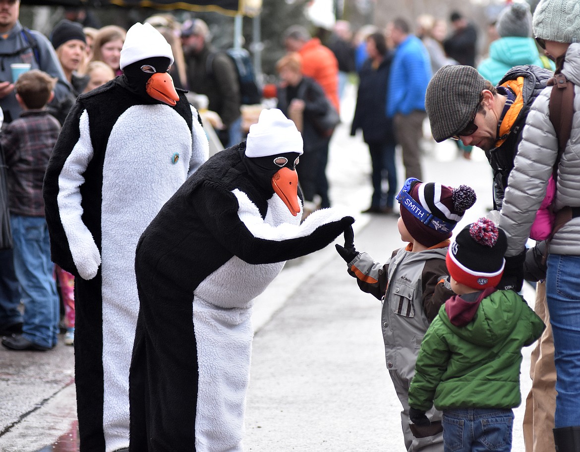
[[[14,92],[16,80],[12,77],[10,64],[28,63],[31,69],[55,77],[57,84],[52,104],[61,102],[71,89],[48,38],[24,28],[19,15],[20,0],[0,0],[0,108],[4,124],[18,119],[22,113]],[[21,332],[19,305],[20,289],[14,274],[13,252],[3,249],[0,251],[0,334]]]

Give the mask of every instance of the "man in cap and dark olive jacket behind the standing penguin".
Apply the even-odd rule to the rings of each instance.
[[[187,88],[208,96],[208,110],[215,111],[222,118],[224,127],[216,133],[223,146],[239,143],[240,82],[233,60],[225,52],[213,49],[209,28],[201,19],[186,20],[181,28],[181,38],[187,64]]]

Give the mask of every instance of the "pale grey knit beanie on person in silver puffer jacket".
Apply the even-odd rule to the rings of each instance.
[[[580,42],[580,1],[541,0],[534,12],[534,35],[548,41]]]

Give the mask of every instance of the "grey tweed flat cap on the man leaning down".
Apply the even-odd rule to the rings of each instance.
[[[443,66],[427,85],[425,110],[437,143],[464,129],[485,89],[485,79],[471,66]]]

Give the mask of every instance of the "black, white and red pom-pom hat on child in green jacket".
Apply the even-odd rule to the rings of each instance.
[[[465,226],[447,252],[447,270],[458,283],[483,290],[502,278],[507,249],[503,230],[487,218]]]

